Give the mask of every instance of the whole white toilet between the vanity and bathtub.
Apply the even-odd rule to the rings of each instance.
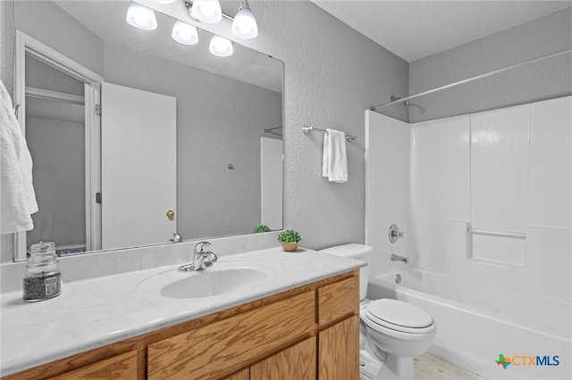
[[[433,318],[407,302],[366,299],[373,248],[346,244],[322,250],[366,261],[359,270],[360,372],[374,379],[413,379],[413,358],[427,351],[437,331]]]

